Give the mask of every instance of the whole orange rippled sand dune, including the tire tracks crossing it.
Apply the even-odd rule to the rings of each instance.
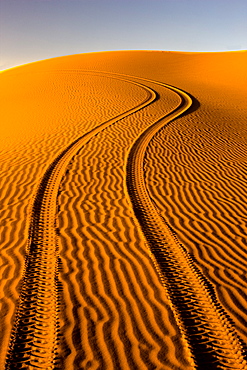
[[[0,369],[247,369],[246,65],[1,73]]]

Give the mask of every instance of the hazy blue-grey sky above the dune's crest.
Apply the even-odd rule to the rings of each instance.
[[[247,49],[247,0],[0,0],[0,69],[111,50]]]

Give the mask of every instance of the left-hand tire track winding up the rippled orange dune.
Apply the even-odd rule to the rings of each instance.
[[[51,163],[33,197],[25,271],[11,335],[6,369],[53,369],[58,341],[57,195],[66,167],[78,150],[107,126],[148,106],[157,94],[138,82],[113,77],[145,89],[147,98],[75,140]]]

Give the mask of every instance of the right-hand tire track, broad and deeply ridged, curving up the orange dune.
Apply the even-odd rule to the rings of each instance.
[[[178,93],[181,105],[136,140],[127,159],[127,191],[195,365],[199,369],[247,369],[246,353],[230,318],[218,303],[211,284],[159,214],[145,185],[143,164],[149,142],[192,105],[185,92],[167,87]]]

